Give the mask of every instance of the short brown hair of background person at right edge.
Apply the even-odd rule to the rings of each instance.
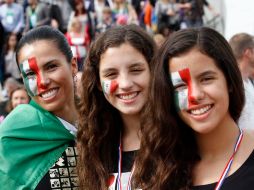
[[[246,49],[254,48],[254,38],[247,33],[235,34],[229,44],[237,60],[241,59]]]

